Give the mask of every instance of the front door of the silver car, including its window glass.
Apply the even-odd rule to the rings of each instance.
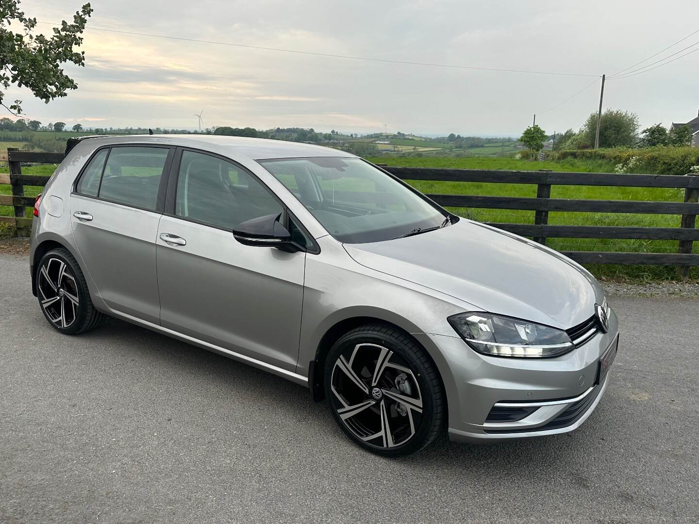
[[[246,246],[231,233],[282,205],[243,168],[187,150],[176,188],[157,235],[161,325],[294,371],[305,252]]]

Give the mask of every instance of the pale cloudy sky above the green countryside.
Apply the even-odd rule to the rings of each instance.
[[[696,0],[94,0],[88,27],[455,66],[411,66],[85,31],[78,89],[45,105],[24,89],[27,117],[93,127],[196,129],[299,126],[316,131],[519,136],[579,129],[597,110],[599,80],[699,29]],[[24,0],[43,22],[72,20],[82,2]],[[678,15],[679,13],[679,15]],[[50,34],[50,25],[38,29]],[[687,45],[679,43],[649,64]],[[697,46],[699,47],[699,46]],[[693,48],[692,48],[693,49]],[[681,53],[682,54],[682,53]],[[679,56],[676,55],[676,56]],[[633,68],[632,68],[633,69]],[[636,112],[642,127],[699,111],[699,52],[607,80],[605,108]],[[593,83],[594,82],[594,83]],[[593,83],[593,85],[590,85]],[[573,94],[581,94],[557,108]],[[387,124],[387,126],[385,126]]]

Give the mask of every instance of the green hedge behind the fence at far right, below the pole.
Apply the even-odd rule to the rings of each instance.
[[[555,159],[607,160],[617,166],[619,173],[686,175],[692,172],[693,166],[699,166],[699,147],[658,146],[561,151],[555,154]]]

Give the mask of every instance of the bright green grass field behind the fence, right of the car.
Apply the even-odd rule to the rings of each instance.
[[[368,159],[375,163],[388,163],[391,166],[415,166],[434,168],[463,169],[504,169],[504,170],[556,170],[583,173],[611,173],[614,166],[604,161],[563,161],[533,162],[511,158],[391,158],[375,157]],[[535,197],[533,184],[492,184],[480,182],[430,182],[425,180],[408,181],[423,193],[468,194],[482,196],[524,196]],[[553,186],[552,198],[590,198],[609,200],[675,201],[684,198],[682,189],[641,188],[641,187],[590,187]],[[480,208],[449,208],[461,217],[484,222],[510,222],[533,224],[534,212],[523,210],[491,210]],[[627,214],[589,212],[550,212],[549,224],[581,226],[649,226],[678,227],[676,214]],[[693,252],[699,253],[699,242],[695,242]],[[626,240],[626,239],[587,239],[549,238],[547,245],[559,251],[614,251],[644,253],[677,253],[676,240]],[[651,265],[592,265],[597,277],[612,279],[675,279],[675,268]],[[691,270],[693,279],[699,278],[699,268]]]

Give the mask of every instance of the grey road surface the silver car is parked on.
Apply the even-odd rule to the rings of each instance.
[[[568,435],[401,460],[308,390],[121,321],[56,333],[0,254],[0,522],[695,523],[699,300],[610,299],[612,381]]]

